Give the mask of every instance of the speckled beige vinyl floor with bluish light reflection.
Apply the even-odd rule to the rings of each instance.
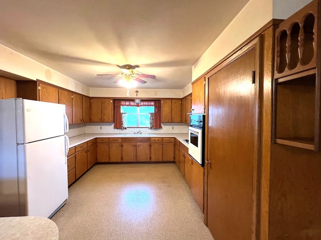
[[[213,239],[175,163],[98,164],[51,218],[59,239]]]

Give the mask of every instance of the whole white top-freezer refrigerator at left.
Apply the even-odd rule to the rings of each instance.
[[[0,99],[0,216],[51,217],[68,198],[65,105]]]

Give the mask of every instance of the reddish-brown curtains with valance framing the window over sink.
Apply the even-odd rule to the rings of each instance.
[[[114,128],[123,129],[123,114],[120,106],[154,106],[152,129],[162,128],[161,125],[161,101],[160,100],[141,100],[135,103],[134,100],[115,100]],[[151,125],[150,125],[151,126]]]

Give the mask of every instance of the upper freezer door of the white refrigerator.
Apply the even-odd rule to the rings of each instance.
[[[68,131],[65,105],[17,98],[17,143],[64,135]]]

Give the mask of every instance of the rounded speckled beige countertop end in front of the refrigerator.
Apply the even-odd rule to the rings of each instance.
[[[0,217],[0,238],[6,240],[57,240],[56,223],[42,216]]]

